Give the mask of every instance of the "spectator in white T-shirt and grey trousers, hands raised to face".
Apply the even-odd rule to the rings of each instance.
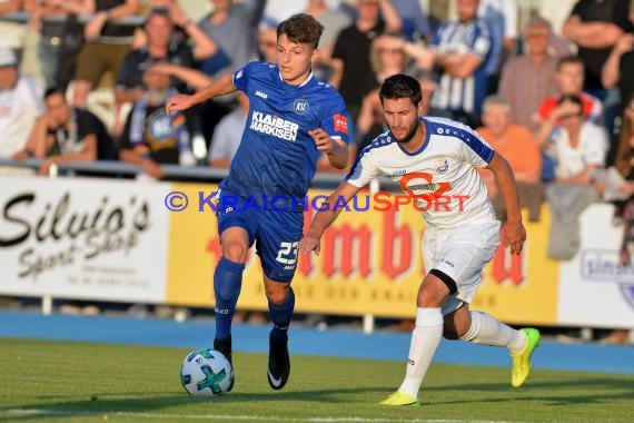
[[[552,214],[547,255],[554,259],[571,259],[581,245],[578,216],[598,199],[592,173],[605,163],[607,135],[585,119],[578,96],[564,96],[558,109],[561,126],[549,137],[546,154],[554,166],[555,181],[546,187]]]

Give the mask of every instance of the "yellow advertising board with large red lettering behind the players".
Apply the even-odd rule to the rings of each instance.
[[[214,269],[221,247],[209,201],[217,186],[175,184],[172,190],[184,194],[188,206],[182,212],[171,213],[167,302],[212,307]],[[309,203],[318,206],[314,199],[329,193],[310,190]],[[412,206],[402,206],[398,210],[382,208],[369,193],[361,194],[355,201],[350,203],[350,212],[344,210],[324,234],[320,255],[299,257],[293,281],[296,311],[414,316],[416,294],[425,274],[424,223],[419,213]],[[306,228],[314,213],[305,212]],[[558,270],[555,263],[545,258],[545,224],[527,225],[529,242],[521,257],[506,257],[504,249],[499,249],[485,269],[474,308],[491,312],[507,322],[556,323]],[[259,260],[251,253],[242,277],[239,308],[267,308],[261,281]]]

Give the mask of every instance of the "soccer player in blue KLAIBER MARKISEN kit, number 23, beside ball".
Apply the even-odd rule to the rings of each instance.
[[[281,390],[290,374],[290,282],[304,226],[304,205],[297,199],[306,197],[323,154],[338,169],[348,163],[346,105],[311,71],[323,29],[315,18],[295,14],[277,28],[277,65],[249,62],[192,96],[172,97],[166,106],[170,114],[236,90],[249,98],[240,147],[218,198],[222,257],[214,274],[214,348],[231,362],[231,319],[247,252],[256,243],[273,322],[267,377],[274,390]]]

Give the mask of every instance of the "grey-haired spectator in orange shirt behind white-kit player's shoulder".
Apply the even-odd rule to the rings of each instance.
[[[537,141],[528,128],[513,124],[513,109],[506,98],[487,97],[483,110],[484,127],[477,131],[508,161],[517,183],[519,205],[528,207],[531,222],[537,222],[543,199],[543,186],[539,181],[542,156]],[[493,174],[486,169],[479,170],[479,174],[486,184],[497,217],[503,222],[506,220],[506,209]]]

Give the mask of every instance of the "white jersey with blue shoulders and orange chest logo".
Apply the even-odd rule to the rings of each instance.
[[[426,139],[416,153],[403,150],[389,131],[359,153],[346,180],[357,187],[383,174],[413,199],[425,223],[453,228],[495,220],[484,181],[476,168],[495,154],[469,127],[445,118],[422,118]]]

